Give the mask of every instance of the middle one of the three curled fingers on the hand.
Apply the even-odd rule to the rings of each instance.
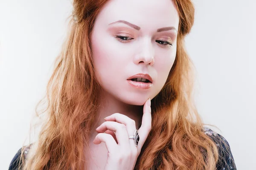
[[[98,133],[104,133],[106,130],[111,130],[116,133],[116,140],[120,146],[130,147],[128,133],[124,124],[107,121],[103,122],[96,129]]]

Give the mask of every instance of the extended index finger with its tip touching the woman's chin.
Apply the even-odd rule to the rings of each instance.
[[[140,141],[138,143],[137,148],[140,150],[145,143],[148,134],[151,130],[151,125],[152,125],[152,120],[151,120],[151,100],[148,99],[144,106],[143,106],[143,116],[142,116],[142,122],[140,129],[138,130],[138,134],[140,136]]]

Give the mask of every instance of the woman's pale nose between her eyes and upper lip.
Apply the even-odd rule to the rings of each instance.
[[[154,64],[154,48],[151,43],[151,39],[145,39],[141,45],[138,45],[138,52],[135,55],[134,62],[135,64],[139,64],[143,62],[145,65],[153,65]]]

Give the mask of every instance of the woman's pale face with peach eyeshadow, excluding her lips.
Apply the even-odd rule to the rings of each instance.
[[[93,64],[105,92],[119,101],[143,105],[163,88],[176,56],[179,17],[172,0],[110,0],[91,35]],[[172,45],[169,45],[172,44]],[[148,74],[148,89],[128,78]]]

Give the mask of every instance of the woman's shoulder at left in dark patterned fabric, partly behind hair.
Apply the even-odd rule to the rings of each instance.
[[[24,146],[21,147],[17,153],[15,154],[15,156],[13,157],[10,165],[9,165],[9,170],[18,170],[18,167],[21,166],[23,164],[23,161],[21,159],[21,156],[24,156],[24,159],[26,159],[27,153],[29,152],[29,149],[31,147],[32,144],[30,144],[29,146]],[[24,153],[23,155],[21,153]]]

